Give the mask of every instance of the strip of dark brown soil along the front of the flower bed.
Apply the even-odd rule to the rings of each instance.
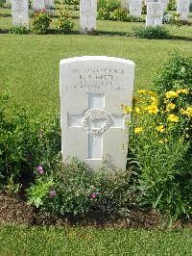
[[[12,197],[0,192],[0,223],[18,223],[26,225],[61,225],[61,226],[91,226],[96,228],[161,228],[161,217],[151,209],[131,209],[127,218],[120,215],[103,215],[93,213],[82,218],[56,218],[48,213],[36,211],[27,205],[19,196]],[[179,220],[173,228],[192,227],[191,220]]]

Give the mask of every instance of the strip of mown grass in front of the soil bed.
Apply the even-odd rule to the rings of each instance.
[[[192,230],[0,226],[0,255],[192,255]]]

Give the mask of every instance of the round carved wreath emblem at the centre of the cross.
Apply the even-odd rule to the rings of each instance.
[[[99,127],[91,127],[91,123],[94,123]],[[103,134],[108,131],[110,127],[110,118],[105,110],[91,109],[85,113],[82,125],[84,130],[88,133],[95,135]]]

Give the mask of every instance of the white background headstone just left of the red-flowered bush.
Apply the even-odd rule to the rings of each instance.
[[[29,28],[28,0],[12,0],[12,26]]]

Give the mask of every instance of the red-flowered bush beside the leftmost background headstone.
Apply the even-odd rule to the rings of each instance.
[[[34,13],[32,20],[32,31],[35,34],[46,34],[49,30],[51,21],[52,19],[50,13],[46,12],[46,10],[41,10]]]

